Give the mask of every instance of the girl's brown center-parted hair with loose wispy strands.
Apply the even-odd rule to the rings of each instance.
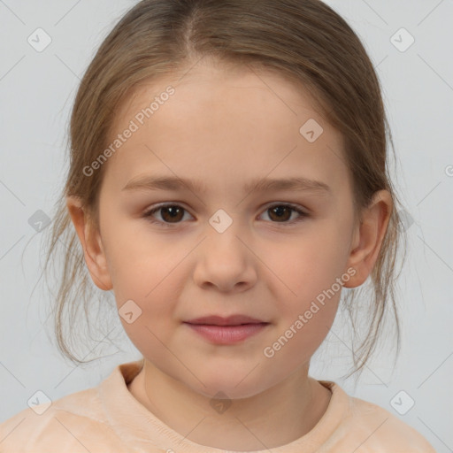
[[[395,258],[404,228],[395,209],[399,202],[388,175],[388,142],[392,150],[394,146],[380,83],[357,35],[319,0],[143,0],[119,20],[102,42],[73,104],[71,161],[64,193],[49,228],[46,270],[50,263],[56,265],[53,256],[58,242],[65,244],[55,300],[58,349],[74,363],[85,363],[84,357],[76,357],[70,346],[75,327],[79,326],[75,319],[83,307],[89,331],[88,309],[95,299],[99,301],[65,196],[79,196],[96,223],[99,188],[108,164],[91,177],[84,175],[83,168],[108,146],[115,111],[134,88],[165,74],[183,73],[200,58],[276,71],[316,96],[326,121],[344,138],[357,221],[376,191],[390,192],[394,209],[372,269],[372,296],[362,295],[365,285],[360,290],[348,289],[342,308],[349,312],[356,332],[357,297],[362,303],[367,301],[368,330],[359,348],[352,349],[354,372],[363,369],[376,349],[385,325],[384,315],[389,310],[395,315],[399,351],[400,326],[395,306],[395,280],[399,273],[395,274]]]

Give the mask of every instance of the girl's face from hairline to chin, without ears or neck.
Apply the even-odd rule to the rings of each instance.
[[[141,125],[137,114],[169,85],[173,96]],[[324,131],[309,142],[300,128],[312,119]],[[134,345],[161,372],[209,396],[255,395],[296,369],[306,372],[334,321],[354,245],[340,133],[276,75],[201,64],[180,83],[167,78],[142,88],[119,111],[111,142],[131,120],[138,130],[104,164],[99,213],[106,287],[119,309],[133,300],[142,310],[130,324],[121,319]],[[198,181],[205,191],[125,189],[157,176]],[[243,189],[256,179],[302,177],[330,189]],[[143,217],[164,202],[180,211]],[[308,217],[270,209],[287,203]],[[213,314],[269,324],[219,344],[185,323]]]

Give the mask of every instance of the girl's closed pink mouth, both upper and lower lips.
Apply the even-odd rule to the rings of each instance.
[[[244,315],[234,315],[222,318],[217,315],[191,319],[184,322],[190,329],[214,344],[234,344],[244,342],[269,326],[269,322],[250,318]]]

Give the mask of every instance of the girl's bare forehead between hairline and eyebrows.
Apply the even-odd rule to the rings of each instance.
[[[342,135],[308,90],[274,72],[200,64],[182,78],[142,83],[121,105],[109,141],[127,129],[134,133],[108,162],[123,186],[155,170],[218,184],[297,168],[333,183],[347,173]]]

